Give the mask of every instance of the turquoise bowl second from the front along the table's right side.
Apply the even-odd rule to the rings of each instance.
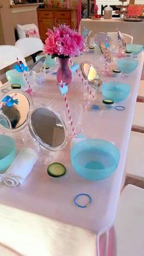
[[[123,82],[106,82],[101,90],[104,98],[110,98],[115,102],[119,102],[128,97],[130,86]]]

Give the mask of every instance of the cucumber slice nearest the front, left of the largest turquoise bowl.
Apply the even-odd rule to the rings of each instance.
[[[63,164],[60,163],[52,163],[48,166],[48,175],[54,178],[59,178],[65,175],[66,168]]]

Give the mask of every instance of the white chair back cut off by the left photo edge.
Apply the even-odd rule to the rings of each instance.
[[[0,70],[16,62],[16,58],[26,64],[23,54],[13,45],[0,45]]]

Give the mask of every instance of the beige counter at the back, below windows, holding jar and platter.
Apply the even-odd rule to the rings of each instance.
[[[92,30],[90,37],[93,37],[99,32],[117,32],[117,28],[125,33],[132,35],[134,37],[133,43],[138,43],[144,45],[144,38],[142,37],[142,31],[144,29],[144,21],[134,22],[134,21],[123,21],[118,18],[92,20],[92,19],[82,19],[79,24],[79,32],[84,31],[84,27],[88,31]]]

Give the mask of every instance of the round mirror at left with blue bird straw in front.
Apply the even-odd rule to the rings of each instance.
[[[21,90],[10,90],[3,95],[0,101],[1,115],[7,117],[10,123],[8,127],[3,126],[13,131],[23,129],[26,126],[27,113],[32,105],[32,99]]]

